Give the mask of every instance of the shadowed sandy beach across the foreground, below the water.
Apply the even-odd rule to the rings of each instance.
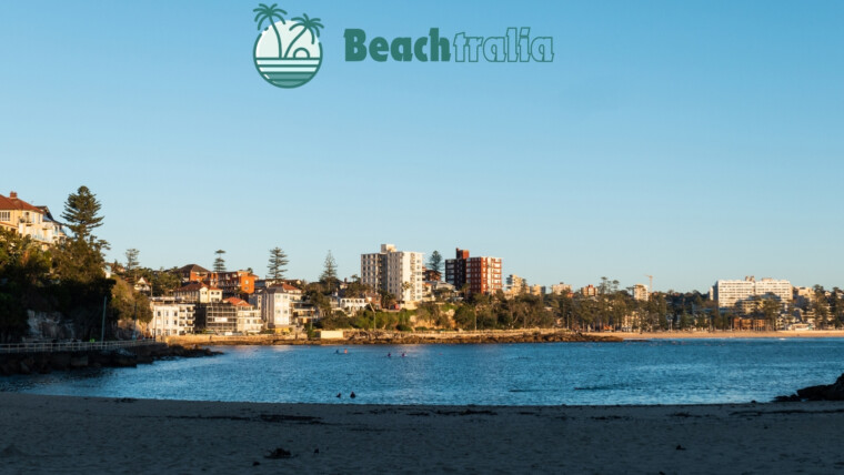
[[[0,393],[0,407],[2,473],[844,471],[844,403],[372,406]],[[279,447],[291,456],[265,457]]]

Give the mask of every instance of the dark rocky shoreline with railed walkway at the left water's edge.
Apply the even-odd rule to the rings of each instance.
[[[53,371],[72,371],[87,367],[135,367],[150,364],[155,360],[174,357],[201,357],[221,354],[209,348],[193,345],[152,345],[118,350],[8,353],[0,354],[0,375],[48,374]]]

